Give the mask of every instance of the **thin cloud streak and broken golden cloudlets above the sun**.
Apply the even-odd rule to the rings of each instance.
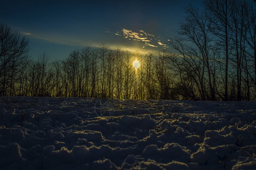
[[[110,40],[109,42],[105,42],[106,44],[110,45],[111,49],[115,48],[121,48],[122,50],[128,50],[130,52],[135,52],[139,50],[141,53],[146,54],[147,52],[158,52],[158,47],[164,47],[164,45],[159,37],[156,37],[155,35],[152,35],[150,33],[147,33],[143,30],[139,30],[137,32],[131,31],[129,29],[123,28],[119,32],[111,32],[106,31],[106,33],[111,33],[115,36],[123,37],[123,39],[127,41],[137,41],[142,46],[134,45],[134,43],[126,43],[120,41],[113,41]],[[62,45],[69,45],[69,46],[91,46],[91,47],[98,47],[102,42],[91,40],[88,41],[86,39],[82,39],[79,37],[73,37],[68,35],[58,35],[58,34],[52,34],[52,33],[43,33],[43,32],[22,32],[23,35],[30,36],[31,39],[38,39],[38,40],[44,40],[48,42],[52,42],[55,44],[62,44]],[[135,42],[135,44],[137,44]],[[146,48],[148,47],[148,48]]]

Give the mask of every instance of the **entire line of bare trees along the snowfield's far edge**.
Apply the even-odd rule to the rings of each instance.
[[[255,2],[203,2],[185,9],[168,51],[143,55],[101,45],[33,60],[27,39],[1,24],[0,95],[256,100]]]

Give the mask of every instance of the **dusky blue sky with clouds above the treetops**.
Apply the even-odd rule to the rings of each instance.
[[[160,52],[176,36],[189,4],[200,7],[201,0],[1,0],[0,22],[28,38],[34,58],[46,53],[63,59],[72,50],[102,44],[131,52]]]

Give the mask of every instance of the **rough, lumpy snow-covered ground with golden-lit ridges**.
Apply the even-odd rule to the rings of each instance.
[[[0,165],[256,169],[255,126],[255,101],[0,97]]]

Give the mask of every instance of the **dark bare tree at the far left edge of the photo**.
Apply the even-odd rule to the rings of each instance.
[[[0,23],[0,95],[14,94],[19,66],[27,61],[27,52],[26,37],[14,32],[7,24]]]

